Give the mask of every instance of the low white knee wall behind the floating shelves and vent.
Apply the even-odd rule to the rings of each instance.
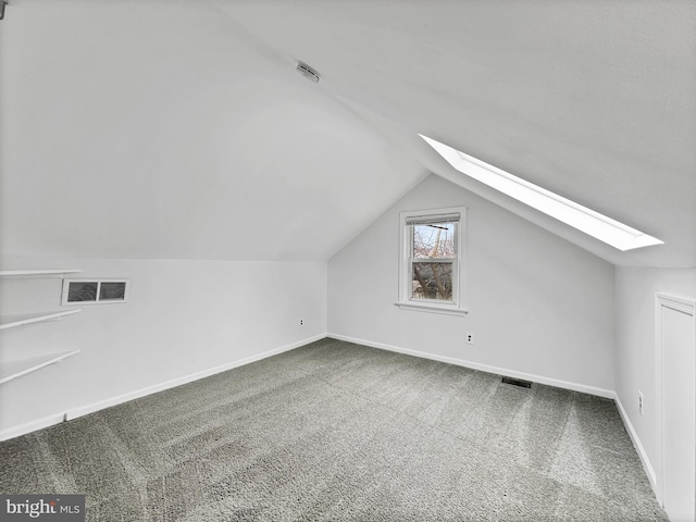
[[[0,438],[53,423],[75,409],[299,346],[326,331],[325,262],[2,260],[3,270],[32,268],[129,277],[130,296],[126,303],[83,306],[80,313],[58,322],[0,333],[2,360],[82,350],[0,384]],[[3,315],[61,309],[60,278],[0,279],[0,285]]]

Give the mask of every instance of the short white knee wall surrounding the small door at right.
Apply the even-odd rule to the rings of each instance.
[[[671,294],[696,298],[696,269],[616,270],[616,357],[617,397],[629,418],[636,446],[655,483],[658,461],[655,369],[655,295]],[[638,413],[638,391],[643,393],[643,417]],[[647,462],[646,462],[647,459]]]

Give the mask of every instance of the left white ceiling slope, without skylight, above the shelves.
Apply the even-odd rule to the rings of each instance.
[[[0,23],[5,254],[328,259],[427,175],[209,2]]]

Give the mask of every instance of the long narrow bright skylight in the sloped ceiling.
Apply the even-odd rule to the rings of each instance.
[[[570,199],[525,182],[476,158],[419,134],[427,145],[462,174],[501,191],[567,225],[577,228],[619,250],[661,245],[663,241],[619,223]]]

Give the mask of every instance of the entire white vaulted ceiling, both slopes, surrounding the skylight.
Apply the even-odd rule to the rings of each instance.
[[[327,259],[434,172],[696,266],[691,0],[23,0],[0,46],[4,253]],[[419,133],[664,245],[619,252]]]

